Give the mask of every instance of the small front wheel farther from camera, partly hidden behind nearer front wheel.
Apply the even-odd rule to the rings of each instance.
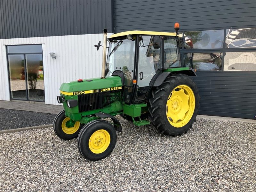
[[[79,121],[71,121],[65,116],[65,110],[61,111],[53,121],[53,130],[56,135],[63,140],[77,138],[79,131],[83,127]]]

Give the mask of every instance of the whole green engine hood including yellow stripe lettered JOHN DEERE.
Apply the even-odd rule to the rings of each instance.
[[[106,77],[105,79],[101,79],[99,77],[99,78],[83,79],[83,82],[71,81],[71,82],[63,83],[60,86],[60,93],[64,95],[75,95],[74,92],[83,92],[82,94],[102,92],[102,90],[105,91],[105,89],[107,91],[108,88],[110,88],[108,91],[117,90],[120,88],[115,88],[115,87],[120,87],[120,86],[122,86],[122,81],[119,76],[109,76],[109,77]]]

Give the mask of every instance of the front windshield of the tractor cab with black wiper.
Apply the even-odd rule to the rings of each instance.
[[[132,86],[134,52],[134,39],[113,39],[112,43],[109,43],[106,76],[111,76],[115,70],[123,71],[124,84]]]

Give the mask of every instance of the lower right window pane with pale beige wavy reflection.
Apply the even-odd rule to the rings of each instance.
[[[256,71],[256,52],[226,52],[225,71]]]

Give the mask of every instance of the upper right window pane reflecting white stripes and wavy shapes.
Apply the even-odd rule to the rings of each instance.
[[[227,29],[226,48],[256,47],[256,28]]]

